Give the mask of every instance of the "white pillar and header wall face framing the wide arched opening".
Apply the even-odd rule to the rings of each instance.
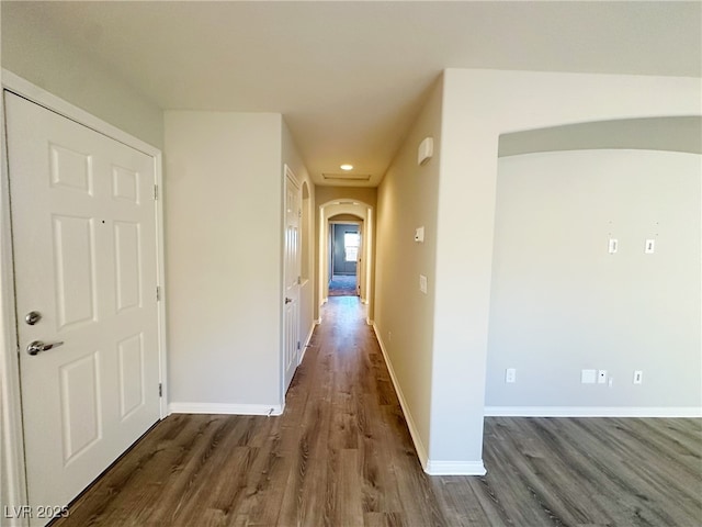
[[[482,467],[500,134],[586,121],[699,115],[694,78],[444,72],[429,459]],[[476,470],[477,471],[477,470]]]

